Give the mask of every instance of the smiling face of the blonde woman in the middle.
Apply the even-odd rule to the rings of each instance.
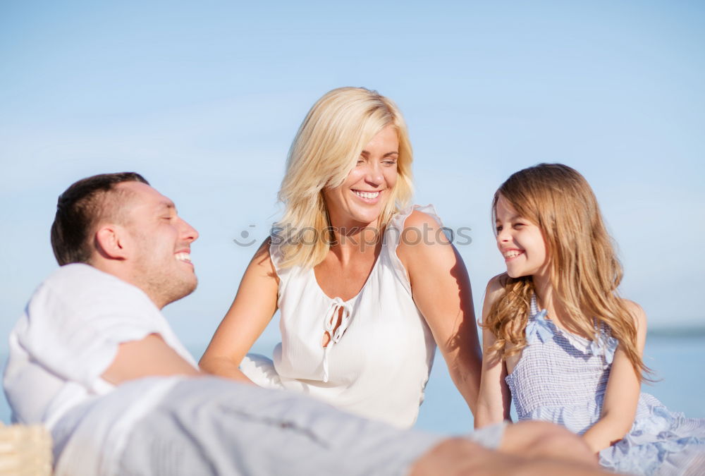
[[[333,226],[374,224],[396,184],[398,158],[396,128],[386,126],[364,146],[343,185],[324,190]]]

